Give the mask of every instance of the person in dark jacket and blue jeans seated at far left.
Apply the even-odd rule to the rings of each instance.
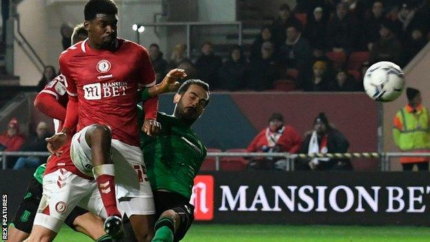
[[[21,151],[47,152],[45,139],[50,137],[48,134],[48,125],[45,122],[37,124],[36,134],[32,135],[21,148]],[[37,168],[41,164],[39,157],[19,157],[14,165],[14,170],[23,168]]]

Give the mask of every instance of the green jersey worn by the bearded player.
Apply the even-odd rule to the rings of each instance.
[[[140,107],[138,113],[142,121]],[[141,132],[141,149],[152,190],[177,192],[190,199],[194,177],[206,157],[205,145],[180,119],[158,112],[157,121],[161,123],[160,134],[148,137]]]

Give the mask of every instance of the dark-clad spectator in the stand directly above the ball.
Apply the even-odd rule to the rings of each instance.
[[[380,39],[374,44],[370,52],[370,63],[378,61],[400,62],[402,46],[400,41],[394,35],[394,24],[391,21],[385,21],[380,26]]]

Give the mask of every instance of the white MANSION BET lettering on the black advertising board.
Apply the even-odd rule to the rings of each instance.
[[[220,185],[221,207],[218,211],[244,212],[407,212],[423,213],[426,210],[424,195],[430,194],[430,186],[363,186],[337,185],[272,185],[269,188],[249,185],[230,188]],[[382,196],[384,194],[384,196]],[[382,201],[385,197],[385,201]]]

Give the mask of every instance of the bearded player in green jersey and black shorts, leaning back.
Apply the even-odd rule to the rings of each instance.
[[[194,177],[206,157],[206,148],[191,126],[209,103],[209,85],[187,80],[173,101],[173,115],[157,115],[161,124],[158,135],[149,137],[141,132],[141,149],[158,218],[152,241],[180,241],[185,236],[194,220],[194,206],[190,204]],[[139,115],[143,115],[141,108]]]

